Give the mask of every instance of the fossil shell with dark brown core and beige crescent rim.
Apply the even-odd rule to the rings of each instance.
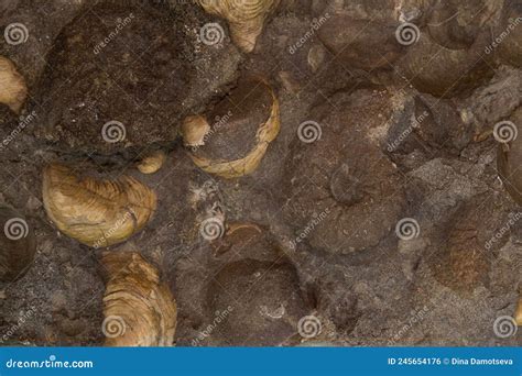
[[[226,178],[240,177],[259,166],[278,136],[279,102],[267,82],[249,78],[213,111],[188,118],[183,128],[185,145],[198,167]]]

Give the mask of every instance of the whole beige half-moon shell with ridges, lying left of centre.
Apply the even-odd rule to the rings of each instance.
[[[149,222],[156,208],[155,193],[132,177],[78,177],[57,164],[44,170],[43,201],[63,233],[94,247],[127,240]]]

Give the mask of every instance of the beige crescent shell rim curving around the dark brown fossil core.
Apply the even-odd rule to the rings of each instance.
[[[275,140],[278,136],[280,129],[281,129],[281,122],[280,122],[280,110],[279,110],[279,101],[278,98],[275,97],[275,93],[273,90],[270,88],[270,86],[262,81],[262,85],[265,86],[268,90],[270,90],[270,93],[272,96],[272,109],[270,112],[270,118],[262,124],[259,125],[258,133],[255,134],[255,146],[244,156],[243,158],[236,159],[236,161],[216,161],[216,159],[209,159],[206,157],[198,156],[196,153],[191,153],[191,157],[193,162],[202,168],[203,170],[209,173],[209,174],[215,174],[218,176],[221,176],[224,178],[236,178],[236,177],[241,177],[243,175],[249,175],[255,168],[258,168],[259,164],[261,163],[261,159],[263,158],[264,154],[267,153],[267,150],[269,147],[269,144]],[[185,120],[185,128],[189,129],[191,126],[195,128],[202,128],[202,119],[205,119],[203,117],[191,117],[192,121]],[[206,121],[207,126],[210,129],[210,125],[208,125],[208,121]],[[205,128],[206,129],[206,128]],[[208,132],[200,132],[202,134],[207,134]],[[204,139],[200,140],[202,143],[204,143]],[[185,144],[189,145],[188,140],[185,139]],[[191,145],[195,146],[195,145]]]

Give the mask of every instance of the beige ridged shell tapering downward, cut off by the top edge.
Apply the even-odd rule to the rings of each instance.
[[[267,16],[279,5],[280,0],[198,0],[210,14],[228,21],[233,43],[249,53],[263,31]]]

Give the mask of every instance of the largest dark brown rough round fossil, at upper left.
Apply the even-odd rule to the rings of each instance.
[[[194,82],[183,31],[165,27],[171,19],[150,3],[99,1],[90,10],[64,26],[48,53],[35,92],[48,106],[36,136],[104,154],[174,140]],[[115,30],[118,43],[106,45]]]

